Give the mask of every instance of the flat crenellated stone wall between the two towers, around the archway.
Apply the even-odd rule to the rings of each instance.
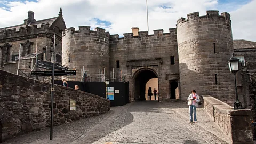
[[[174,56],[174,65],[170,57]],[[122,69],[125,80],[130,82],[130,97],[133,101],[134,73],[141,68],[155,70],[158,75],[160,97],[169,99],[169,80],[179,79],[179,59],[177,49],[177,33],[172,28],[168,33],[163,30],[154,30],[154,35],[147,31],[140,31],[139,36],[133,33],[110,35],[110,68]],[[119,61],[120,68],[116,68]],[[170,74],[170,75],[167,75]]]

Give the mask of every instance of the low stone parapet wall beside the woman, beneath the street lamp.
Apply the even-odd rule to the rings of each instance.
[[[252,112],[250,109],[234,110],[210,95],[202,95],[204,109],[213,118],[223,134],[227,135],[233,143],[252,143]]]

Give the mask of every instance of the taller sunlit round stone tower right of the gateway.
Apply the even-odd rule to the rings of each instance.
[[[235,86],[228,67],[233,53],[230,14],[206,11],[187,17],[177,21],[181,98],[186,100],[195,89],[231,105]]]

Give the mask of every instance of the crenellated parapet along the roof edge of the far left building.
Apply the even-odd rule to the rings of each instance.
[[[0,31],[0,39],[11,38],[17,36],[23,36],[26,34],[41,33],[42,31],[48,30],[49,23],[42,23],[38,25],[32,25],[27,27],[17,27],[13,29],[4,29]]]

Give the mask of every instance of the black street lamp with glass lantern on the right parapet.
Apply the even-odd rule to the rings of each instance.
[[[236,86],[236,72],[238,71],[238,62],[239,59],[234,57],[234,53],[232,54],[232,58],[228,61],[228,66],[230,72],[232,72],[235,76],[235,86]],[[238,99],[238,94],[237,94],[237,86],[236,86],[236,102],[234,103],[234,109],[244,109],[242,106],[242,103]]]

